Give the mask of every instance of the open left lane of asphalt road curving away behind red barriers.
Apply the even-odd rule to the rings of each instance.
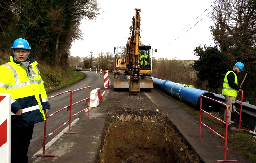
[[[76,72],[74,72],[76,73]],[[60,90],[56,90],[54,92],[48,93],[47,96],[53,96],[55,94],[65,92],[68,90],[76,90],[79,88],[83,88],[86,86],[90,86],[91,90],[95,88],[103,88],[103,76],[100,75],[99,73],[93,73],[93,72],[85,72],[85,78],[82,79],[81,81],[74,83],[68,87],[62,88]],[[73,103],[77,102],[79,100],[85,99],[89,97],[89,89],[83,89],[74,92],[73,94]],[[57,97],[53,97],[49,100],[51,109],[48,112],[48,115],[52,114],[53,112],[69,105],[70,102],[70,93],[65,93]],[[76,112],[87,108],[88,104],[83,101],[81,103],[78,103],[77,105],[74,105],[72,107],[72,114],[75,114]],[[72,120],[79,118],[82,116],[82,114],[78,114],[75,117],[73,117]],[[47,130],[46,134],[50,134],[53,130],[58,128],[60,125],[65,123],[69,119],[69,111],[67,109],[62,110],[61,112],[58,112],[57,114],[47,118]],[[65,127],[67,127],[68,124],[64,125],[61,129],[59,129],[57,132],[52,134],[50,137],[46,139],[46,143],[49,142],[52,138],[54,138],[58,133],[60,133]],[[28,157],[29,157],[29,162],[34,162],[32,156],[39,151],[42,148],[42,143],[43,143],[43,131],[44,131],[44,123],[37,123],[34,126],[34,132],[33,132],[33,138],[29,146],[29,151],[28,151]]]

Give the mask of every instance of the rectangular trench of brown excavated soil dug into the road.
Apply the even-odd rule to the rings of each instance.
[[[108,115],[97,163],[201,163],[164,114],[120,110]]]

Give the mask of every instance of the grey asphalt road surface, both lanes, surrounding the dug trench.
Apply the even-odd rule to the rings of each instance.
[[[90,85],[92,89],[103,86],[103,77],[94,72],[84,72],[86,78],[80,82],[66,87],[64,89],[52,92],[48,96],[60,93],[67,90],[74,90],[81,87]],[[113,79],[113,75],[109,76]],[[112,82],[113,83],[113,82]],[[80,118],[78,123],[72,127],[73,131],[79,131],[77,135],[63,135],[60,140],[56,141],[52,146],[47,149],[47,153],[59,154],[59,157],[40,157],[38,159],[32,156],[41,149],[43,139],[44,123],[35,125],[32,143],[29,149],[29,162],[31,163],[63,163],[63,162],[76,162],[76,163],[95,163],[98,158],[98,153],[102,152],[100,145],[102,143],[105,127],[106,115],[111,114],[118,110],[126,111],[140,111],[140,110],[156,110],[165,114],[173,123],[173,126],[179,130],[178,135],[182,136],[185,144],[191,144],[194,150],[200,155],[205,163],[212,163],[215,160],[222,159],[223,156],[223,140],[213,134],[210,130],[202,128],[202,136],[198,138],[198,119],[191,115],[183,106],[179,105],[176,99],[167,98],[164,94],[159,93],[156,89],[152,92],[140,92],[138,94],[131,94],[129,90],[113,91],[113,88],[104,94],[103,102],[99,107],[90,111],[90,120],[84,116],[85,114],[78,115],[73,118]],[[74,101],[81,100],[88,97],[88,90],[79,91],[74,95]],[[106,96],[107,95],[107,96]],[[69,94],[61,97],[52,98],[52,110],[50,114],[59,108],[67,106],[69,103]],[[78,105],[78,108],[73,108],[73,113],[87,107],[85,102],[83,105]],[[83,115],[83,116],[82,116]],[[60,114],[50,117],[47,121],[47,134],[52,130],[59,127],[68,120],[68,112],[63,110]],[[67,125],[66,125],[67,126]],[[65,127],[66,127],[65,126]],[[64,127],[63,127],[64,129]],[[60,129],[63,130],[63,129]],[[59,131],[59,132],[60,132]],[[52,134],[47,138],[49,142],[59,132]],[[229,146],[228,158],[237,159],[239,162],[248,162],[243,156],[239,155]],[[178,149],[180,149],[179,147]],[[189,147],[190,148],[190,147]],[[101,150],[99,150],[101,149]],[[183,148],[184,149],[184,148]],[[180,150],[176,152],[179,154]]]

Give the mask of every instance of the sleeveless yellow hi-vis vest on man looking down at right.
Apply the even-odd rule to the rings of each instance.
[[[225,95],[225,96],[232,96],[232,97],[236,97],[237,96],[237,92],[238,90],[235,90],[233,88],[231,88],[228,84],[228,79],[227,79],[227,76],[229,73],[234,73],[235,75],[235,83],[238,84],[237,82],[237,75],[235,74],[235,72],[233,72],[232,70],[228,71],[225,75],[225,78],[224,78],[224,82],[223,82],[223,89],[222,89],[222,94]]]

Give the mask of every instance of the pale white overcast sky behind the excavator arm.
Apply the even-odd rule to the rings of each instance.
[[[126,46],[134,8],[141,8],[140,41],[157,49],[153,57],[196,59],[193,54],[194,47],[199,44],[214,45],[210,32],[210,26],[214,24],[208,16],[202,19],[211,8],[197,18],[212,2],[212,0],[98,0],[101,13],[95,21],[81,21],[83,39],[72,43],[71,55],[86,57],[92,50],[97,57],[97,53],[113,52],[114,47]],[[195,18],[197,19],[189,25]],[[198,22],[199,20],[201,21]],[[187,25],[189,26],[184,29]],[[195,26],[191,28],[193,25]],[[189,28],[191,29],[187,31]],[[175,36],[176,34],[178,35]],[[177,37],[179,38],[176,39]],[[174,39],[176,40],[172,42]]]

